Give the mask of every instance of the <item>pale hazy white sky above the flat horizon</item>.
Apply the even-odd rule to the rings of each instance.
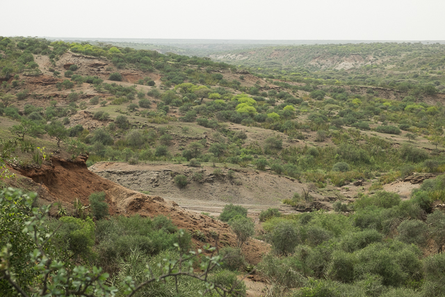
[[[445,40],[445,0],[2,2],[3,36]]]

